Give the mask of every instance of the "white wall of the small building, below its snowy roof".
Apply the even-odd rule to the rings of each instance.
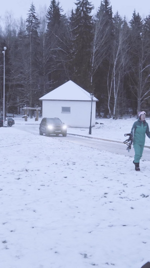
[[[70,113],[63,113],[62,107],[70,107]],[[42,101],[42,117],[58,117],[68,127],[88,128],[90,125],[91,102]],[[92,102],[91,126],[95,125],[95,102]]]

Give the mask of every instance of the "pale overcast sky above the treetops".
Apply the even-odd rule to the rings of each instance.
[[[59,0],[60,6],[67,14],[71,8],[75,8],[74,2],[75,0]],[[94,12],[100,6],[100,0],[91,0],[91,3],[94,5]],[[30,8],[32,0],[6,0],[0,2],[0,17],[1,20],[4,18],[5,12],[11,12],[15,19],[19,19],[21,16],[26,19],[26,14]],[[51,0],[33,0],[33,4],[36,8],[36,12],[38,13],[40,7],[48,8],[51,3]],[[132,17],[133,10],[135,9],[136,13],[138,12],[142,18],[145,18],[150,14],[150,2],[149,0],[110,0],[110,4],[112,6],[113,14],[118,11],[119,15],[126,17],[129,21]]]

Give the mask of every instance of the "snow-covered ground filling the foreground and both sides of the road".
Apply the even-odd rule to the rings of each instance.
[[[39,136],[41,118],[14,120],[0,128],[0,267],[140,268],[149,261],[149,161],[136,172],[130,156]],[[123,141],[135,120],[96,119],[91,135],[67,132]]]

